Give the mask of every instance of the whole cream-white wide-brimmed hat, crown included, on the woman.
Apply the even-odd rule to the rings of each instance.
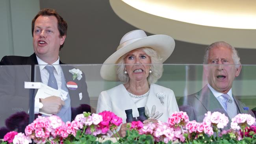
[[[147,36],[143,30],[130,31],[122,37],[117,51],[104,61],[100,69],[100,76],[108,81],[119,81],[116,65],[107,64],[116,64],[122,55],[142,47],[150,47],[155,50],[161,57],[161,63],[163,63],[173,53],[175,42],[169,35]]]

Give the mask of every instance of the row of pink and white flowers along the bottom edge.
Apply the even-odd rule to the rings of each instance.
[[[173,113],[168,122],[132,122],[127,125],[125,137],[117,133],[121,123],[122,119],[109,111],[78,114],[75,120],[66,123],[58,116],[39,116],[26,127],[25,134],[11,131],[0,144],[28,144],[32,140],[47,144],[256,143],[255,118],[249,114],[237,114],[228,130],[224,130],[228,118],[219,112],[208,112],[200,123],[189,121],[186,112],[182,111]]]

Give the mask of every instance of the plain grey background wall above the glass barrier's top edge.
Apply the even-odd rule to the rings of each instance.
[[[67,39],[60,52],[63,63],[103,63],[116,51],[122,36],[137,29],[119,18],[108,0],[1,0],[0,57],[33,53],[31,21],[43,8],[56,9],[68,23]],[[175,42],[174,52],[165,63],[202,63],[206,45]],[[242,64],[256,64],[255,49],[237,50]]]

